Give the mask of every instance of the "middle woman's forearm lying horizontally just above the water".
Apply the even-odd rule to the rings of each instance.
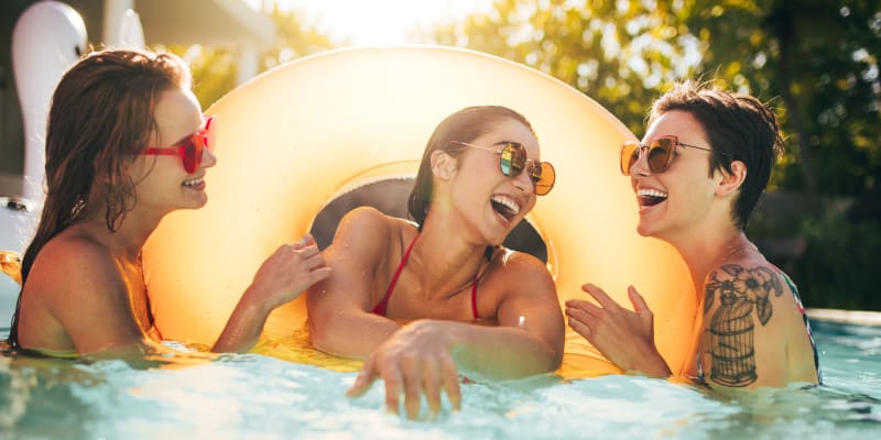
[[[453,338],[452,353],[460,370],[492,380],[553,372],[563,359],[562,346],[556,348],[522,328],[434,322],[439,327],[438,331]]]

